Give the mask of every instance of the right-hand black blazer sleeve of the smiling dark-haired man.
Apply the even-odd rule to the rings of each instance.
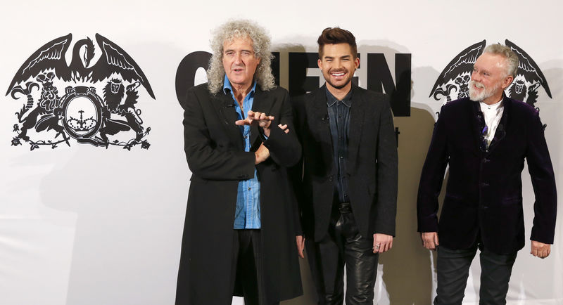
[[[375,232],[395,236],[398,155],[393,114],[385,96],[377,135],[377,218]]]

